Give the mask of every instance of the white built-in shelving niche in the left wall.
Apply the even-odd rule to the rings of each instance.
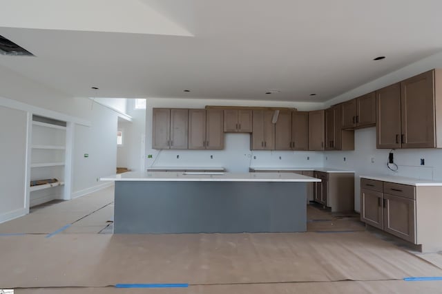
[[[55,199],[64,199],[66,122],[33,115],[30,158],[31,181],[50,178],[58,180],[30,187],[30,207]]]

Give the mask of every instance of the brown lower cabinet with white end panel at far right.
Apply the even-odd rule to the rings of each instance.
[[[442,250],[442,187],[361,178],[361,221],[418,245]]]

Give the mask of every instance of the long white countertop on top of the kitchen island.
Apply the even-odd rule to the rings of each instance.
[[[225,173],[225,172],[175,172],[129,171],[100,178],[104,181],[151,182],[320,182],[320,179],[290,173]]]

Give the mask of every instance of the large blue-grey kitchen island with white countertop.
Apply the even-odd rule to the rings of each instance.
[[[114,233],[307,230],[308,182],[298,174],[128,172],[115,181]]]

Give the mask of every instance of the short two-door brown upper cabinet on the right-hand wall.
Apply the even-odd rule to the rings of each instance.
[[[342,103],[343,129],[372,127],[376,124],[375,92]]]

